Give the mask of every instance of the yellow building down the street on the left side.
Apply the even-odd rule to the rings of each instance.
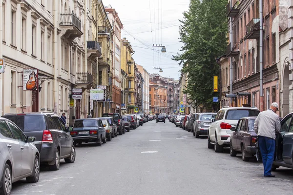
[[[121,42],[121,69],[127,74],[125,96],[126,96],[126,112],[134,113],[136,102],[136,75],[135,75],[135,62],[132,58],[134,53],[130,42],[124,38]]]

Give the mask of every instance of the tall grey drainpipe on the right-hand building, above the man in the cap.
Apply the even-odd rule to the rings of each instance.
[[[264,110],[263,104],[263,2],[259,0],[259,95],[260,111]]]

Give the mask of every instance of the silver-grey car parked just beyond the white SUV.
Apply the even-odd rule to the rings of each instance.
[[[211,124],[210,119],[215,118],[216,113],[199,113],[193,122],[193,136],[207,136],[208,128]]]

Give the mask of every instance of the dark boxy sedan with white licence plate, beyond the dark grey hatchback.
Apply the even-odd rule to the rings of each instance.
[[[107,142],[106,131],[101,119],[84,118],[77,119],[74,122],[73,130],[70,135],[75,144],[83,142],[96,142],[98,146]]]

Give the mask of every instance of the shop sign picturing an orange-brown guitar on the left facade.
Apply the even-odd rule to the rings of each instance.
[[[38,69],[23,69],[22,86],[24,91],[34,91],[39,89]]]

